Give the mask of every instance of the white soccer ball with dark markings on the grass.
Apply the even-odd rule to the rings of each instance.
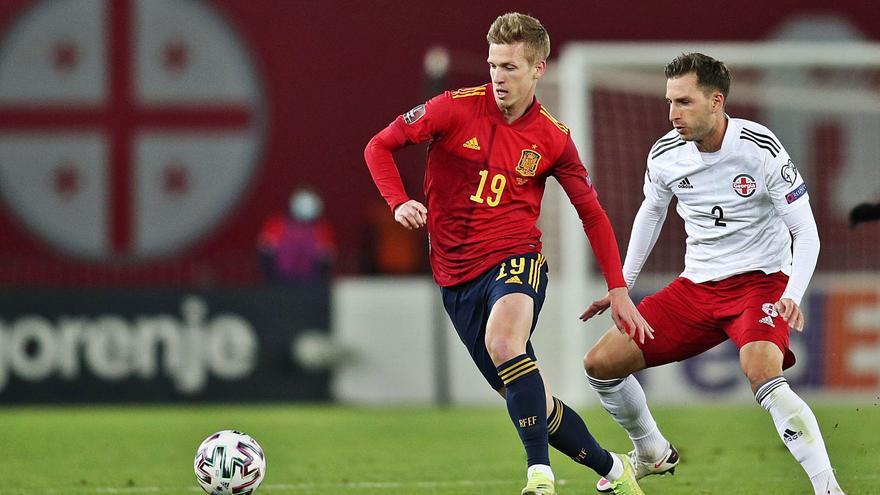
[[[199,486],[211,495],[249,495],[266,476],[266,456],[250,435],[223,430],[199,445],[193,469]]]

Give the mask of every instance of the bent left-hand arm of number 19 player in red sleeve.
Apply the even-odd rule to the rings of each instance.
[[[439,132],[448,118],[445,99],[446,95],[437,96],[399,116],[373,136],[364,149],[364,160],[373,182],[391,208],[394,220],[407,229],[425,226],[428,209],[406,193],[394,152],[409,144],[432,139]]]

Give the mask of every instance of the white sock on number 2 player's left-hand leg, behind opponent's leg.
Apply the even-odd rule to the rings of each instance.
[[[666,453],[669,441],[657,428],[645,391],[636,377],[599,380],[587,375],[587,380],[605,410],[626,430],[640,460],[653,462]]]

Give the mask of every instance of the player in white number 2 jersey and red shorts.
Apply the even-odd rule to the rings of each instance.
[[[675,469],[678,452],[660,433],[632,373],[681,361],[731,339],[755,399],[815,493],[843,493],[810,407],[782,372],[795,362],[789,329],[802,331],[800,303],[819,255],[807,187],[766,127],[724,111],[730,73],[700,53],[666,66],[673,130],[648,154],[644,194],[623,274],[632,288],[672,197],[687,231],[685,269],[638,309],[655,329],[644,343],[616,327],[584,357],[590,385],[629,434],[637,476]],[[586,321],[609,307],[594,302]],[[597,489],[608,484],[599,480]]]

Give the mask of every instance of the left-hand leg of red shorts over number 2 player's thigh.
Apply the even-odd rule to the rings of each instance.
[[[638,309],[654,329],[654,338],[633,343],[641,349],[645,367],[683,361],[727,340],[711,307],[706,289],[685,278],[644,298]]]

